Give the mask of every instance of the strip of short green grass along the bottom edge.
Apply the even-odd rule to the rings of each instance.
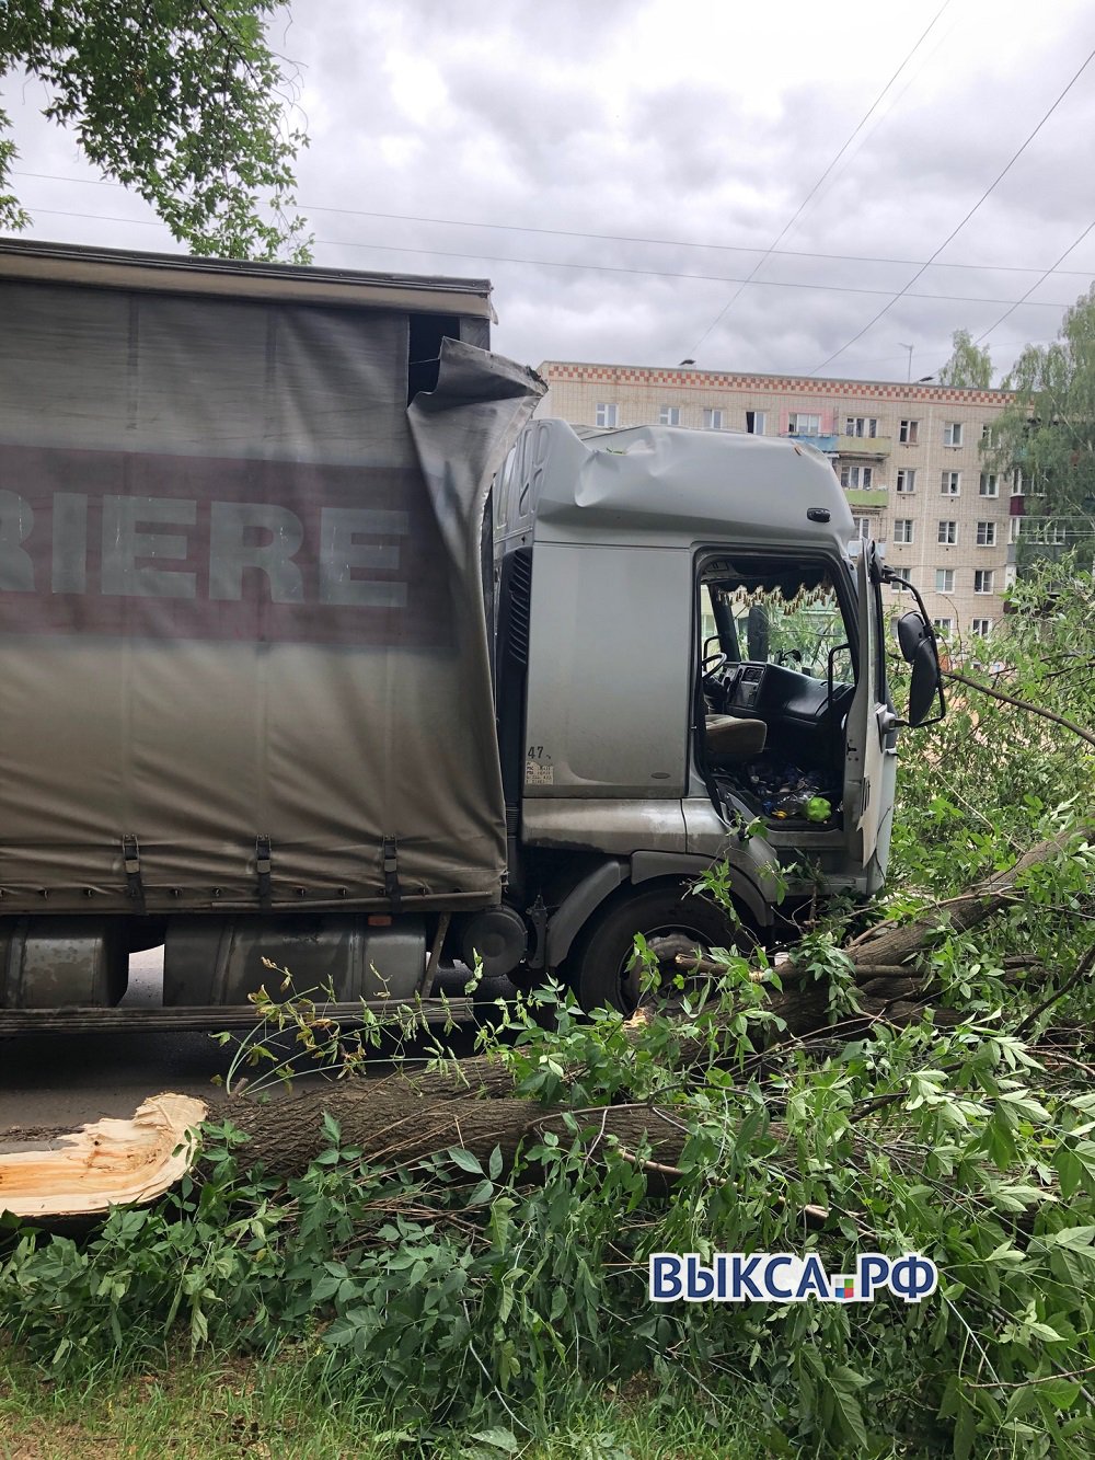
[[[781,1453],[780,1437],[748,1399],[712,1402],[708,1413],[696,1413],[641,1380],[578,1399],[550,1425],[520,1412],[502,1418],[496,1432],[412,1432],[396,1407],[384,1413],[353,1396],[333,1403],[317,1393],[301,1355],[269,1364],[178,1358],[156,1371],[101,1368],[79,1383],[55,1383],[0,1349],[0,1460],[762,1460]]]

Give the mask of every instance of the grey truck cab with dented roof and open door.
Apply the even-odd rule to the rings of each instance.
[[[882,885],[907,721],[885,571],[821,453],[534,420],[495,483],[495,575],[511,895],[543,898],[543,962],[583,1003],[634,1003],[637,933],[666,964],[727,942],[692,891],[712,861],[759,936],[781,902]],[[901,642],[926,645],[918,723],[923,613]]]

